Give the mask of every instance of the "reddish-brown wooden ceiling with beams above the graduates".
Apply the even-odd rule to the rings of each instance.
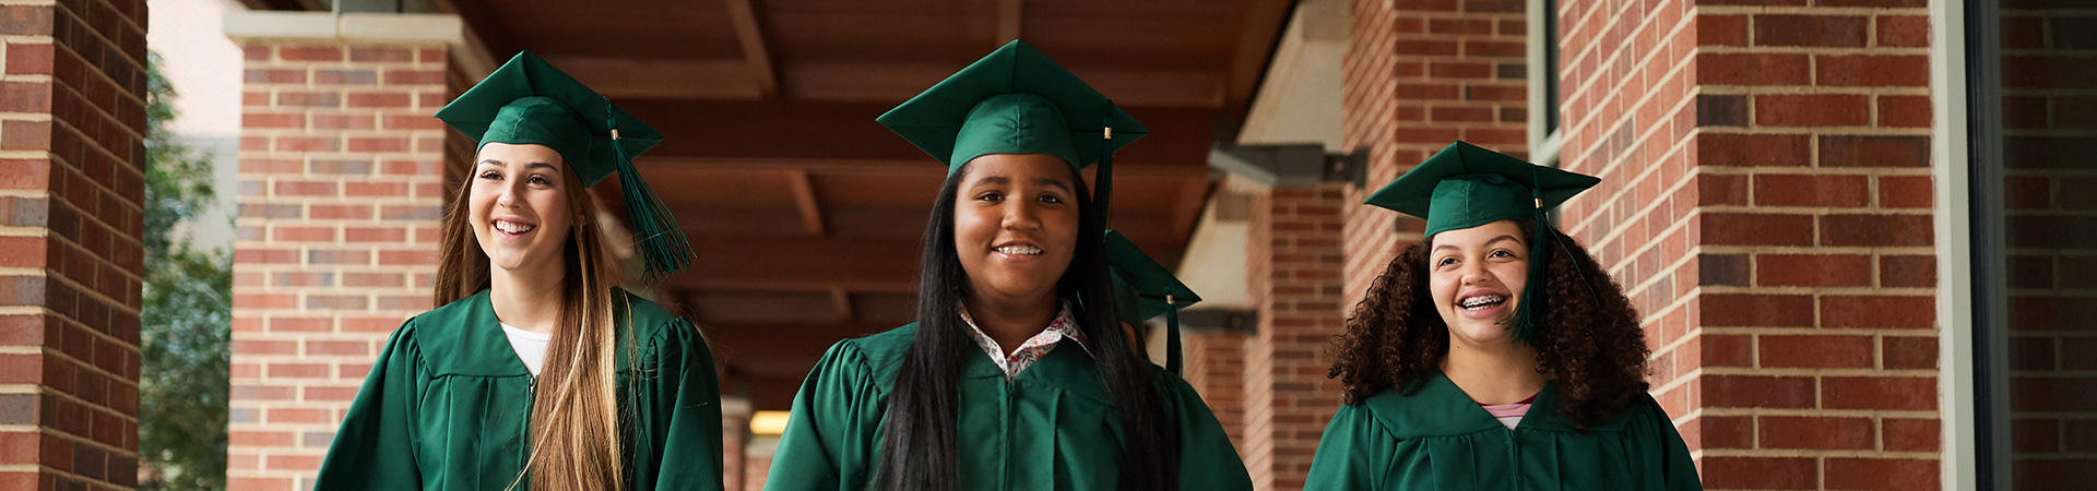
[[[1151,128],[1116,153],[1111,227],[1174,264],[1292,0],[432,4],[497,61],[533,50],[667,136],[637,164],[698,262],[663,296],[709,325],[726,394],[784,409],[824,348],[912,311],[944,166],[877,115],[1023,38]]]

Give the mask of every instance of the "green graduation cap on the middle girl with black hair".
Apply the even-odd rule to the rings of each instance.
[[[1114,151],[1149,132],[1023,40],[874,120],[946,164],[948,174],[990,153],[1048,153],[1074,168],[1099,162],[1099,210],[1107,210]]]

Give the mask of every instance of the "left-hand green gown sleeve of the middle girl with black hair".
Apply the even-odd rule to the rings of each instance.
[[[879,455],[883,401],[853,340],[830,346],[801,382],[765,491],[864,489]]]

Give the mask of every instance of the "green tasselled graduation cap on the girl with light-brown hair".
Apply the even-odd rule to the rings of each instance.
[[[543,59],[518,52],[438,109],[436,118],[478,138],[476,151],[489,143],[545,145],[568,162],[583,185],[598,185],[617,172],[648,264],[646,279],[692,262],[692,246],[677,218],[633,168],[633,157],[663,143],[663,134]]]

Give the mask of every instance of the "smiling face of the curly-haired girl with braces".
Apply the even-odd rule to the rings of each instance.
[[[1529,246],[1514,220],[1430,237],[1428,292],[1455,344],[1508,344],[1529,281]]]

